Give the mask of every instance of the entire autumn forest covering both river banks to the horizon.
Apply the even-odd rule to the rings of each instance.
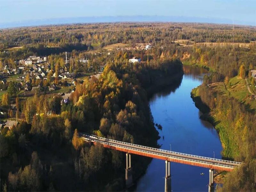
[[[255,108],[209,88],[216,82],[228,87],[229,79],[249,78],[256,68],[255,29],[236,26],[233,44],[232,28],[205,23],[100,23],[0,29],[1,69],[17,68],[15,61],[29,55],[47,56],[50,75],[41,81],[33,77],[33,86],[67,84],[51,77],[66,67],[65,52],[70,58],[67,70],[77,76],[97,74],[104,67],[99,79],[79,80],[68,104],[61,105],[59,95],[45,92],[21,100],[16,84],[1,85],[8,93],[1,106],[15,104],[24,114],[17,127],[1,130],[1,191],[124,189],[124,154],[86,144],[77,133],[158,147],[148,97],[164,86],[179,86],[182,63],[209,70],[192,97],[198,108],[203,106],[202,118],[217,129],[223,158],[245,162],[227,174],[220,190],[255,190]],[[104,48],[117,43],[128,48],[150,43],[152,48],[118,47],[107,55]],[[129,63],[135,56],[142,62]],[[78,61],[83,57],[87,64]],[[139,178],[146,169],[141,162],[150,159],[134,158],[133,176]]]

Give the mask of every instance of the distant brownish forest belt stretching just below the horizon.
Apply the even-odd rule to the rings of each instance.
[[[114,43],[139,41],[169,44],[175,39],[195,42],[232,42],[233,26],[206,23],[101,23],[10,28],[0,30],[0,48],[43,44],[63,47],[86,44],[100,48]],[[235,42],[255,41],[252,27],[236,26]]]

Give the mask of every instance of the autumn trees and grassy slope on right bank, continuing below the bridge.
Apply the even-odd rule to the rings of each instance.
[[[207,79],[207,78],[206,78]],[[207,80],[193,90],[193,99],[205,114],[202,118],[214,124],[223,146],[222,156],[245,162],[228,173],[222,191],[254,191],[256,189],[255,114],[235,98],[213,92]],[[200,97],[200,98],[199,98]],[[207,114],[210,112],[210,115]]]

